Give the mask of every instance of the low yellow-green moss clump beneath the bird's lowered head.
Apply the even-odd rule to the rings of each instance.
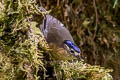
[[[64,79],[80,79],[80,80],[112,80],[112,76],[108,72],[110,69],[105,69],[100,66],[91,66],[83,62],[63,62],[61,71],[64,72]]]

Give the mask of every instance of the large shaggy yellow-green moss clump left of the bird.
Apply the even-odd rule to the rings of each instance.
[[[34,2],[2,0],[0,2],[0,79],[37,79],[38,71],[45,72],[43,49],[47,44],[30,20]],[[44,41],[43,41],[44,40]],[[42,43],[42,45],[41,45]],[[43,49],[39,50],[38,45]]]

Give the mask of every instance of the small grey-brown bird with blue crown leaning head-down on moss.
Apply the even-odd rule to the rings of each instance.
[[[41,12],[46,12],[43,7],[39,9]],[[69,30],[58,19],[46,12],[40,29],[49,46],[57,52],[54,54],[57,60],[83,60],[81,50],[75,45]]]

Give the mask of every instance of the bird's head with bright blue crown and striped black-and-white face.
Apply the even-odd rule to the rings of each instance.
[[[68,51],[68,53],[76,56],[77,58],[79,58],[80,60],[81,58],[81,51],[80,49],[70,40],[65,40],[64,41],[64,48]]]

